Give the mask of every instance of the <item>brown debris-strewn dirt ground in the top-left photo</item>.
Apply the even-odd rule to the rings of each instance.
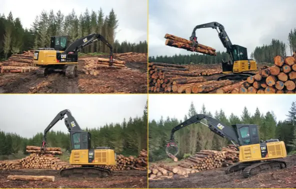
[[[85,75],[83,65],[84,61],[78,60],[78,77],[71,79],[61,73],[45,78],[37,77],[35,72],[0,74],[0,93],[147,93],[146,63],[99,70],[96,76]]]

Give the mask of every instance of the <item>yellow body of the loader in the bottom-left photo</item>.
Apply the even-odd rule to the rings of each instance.
[[[114,166],[116,165],[114,150],[72,150],[69,163],[71,165],[94,165]]]

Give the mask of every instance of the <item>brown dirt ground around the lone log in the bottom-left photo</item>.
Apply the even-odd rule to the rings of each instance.
[[[42,181],[9,181],[8,175],[31,175],[31,176],[55,176],[54,182]],[[0,188],[147,188],[146,171],[120,171],[113,172],[113,177],[109,178],[61,178],[55,170],[9,170],[0,171]]]

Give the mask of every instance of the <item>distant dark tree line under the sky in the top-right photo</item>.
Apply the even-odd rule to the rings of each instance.
[[[250,59],[256,60],[257,63],[273,63],[273,57],[280,55],[282,57],[289,56],[286,54],[286,49],[289,48],[290,55],[296,51],[296,28],[288,33],[288,44],[278,40],[272,39],[270,44],[263,44],[256,46],[254,51],[250,54]],[[229,55],[226,52],[217,51],[216,56],[204,54],[175,54],[173,56],[149,56],[150,62],[165,62],[169,64],[215,64],[222,60],[229,60]]]

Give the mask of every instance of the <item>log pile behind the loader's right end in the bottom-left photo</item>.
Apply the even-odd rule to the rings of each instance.
[[[147,169],[147,151],[142,150],[138,157],[124,157],[117,155],[115,166],[98,166],[101,168],[109,169],[110,171],[120,170],[146,170]]]

